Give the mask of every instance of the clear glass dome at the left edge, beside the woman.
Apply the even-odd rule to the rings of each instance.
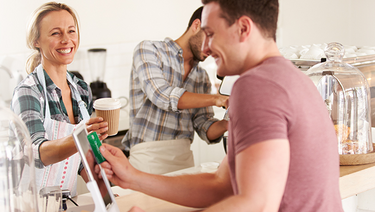
[[[0,100],[1,211],[38,211],[31,139],[23,121]]]

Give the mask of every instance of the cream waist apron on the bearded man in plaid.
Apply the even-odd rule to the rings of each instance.
[[[190,139],[150,141],[130,149],[134,168],[152,174],[165,174],[194,166]]]

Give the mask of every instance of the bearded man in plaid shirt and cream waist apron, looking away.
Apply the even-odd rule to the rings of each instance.
[[[228,97],[212,95],[207,72],[199,66],[203,7],[192,15],[177,40],[142,41],[134,50],[130,77],[130,129],[122,143],[137,169],[163,174],[194,166],[194,131],[217,143],[227,121],[213,118],[212,106],[226,107]]]

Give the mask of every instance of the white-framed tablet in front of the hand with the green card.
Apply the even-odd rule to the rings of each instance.
[[[115,196],[113,195],[111,185],[109,184],[109,181],[107,179],[107,176],[105,175],[104,170],[99,164],[100,172],[103,177],[103,181],[105,183],[105,186],[107,188],[107,195],[103,198],[100,194],[100,190],[98,187],[98,184],[95,181],[94,176],[92,175],[90,166],[86,159],[86,154],[88,151],[92,151],[89,140],[87,138],[88,134],[86,131],[86,126],[84,122],[81,122],[77,125],[76,129],[73,132],[73,138],[74,142],[76,144],[77,150],[79,155],[82,159],[82,164],[85,167],[89,182],[86,183],[87,189],[90,191],[92,198],[95,203],[95,210],[94,212],[120,212]],[[96,160],[96,158],[95,158]]]

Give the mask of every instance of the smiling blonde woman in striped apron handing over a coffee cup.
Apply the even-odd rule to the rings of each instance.
[[[79,41],[72,8],[55,2],[39,7],[27,31],[27,44],[34,50],[27,61],[29,75],[15,88],[11,105],[31,135],[38,190],[60,186],[72,196],[77,173],[87,181],[72,137],[75,125],[84,121],[87,130],[96,131],[101,140],[108,136],[107,122],[90,118],[89,86],[67,71]]]

